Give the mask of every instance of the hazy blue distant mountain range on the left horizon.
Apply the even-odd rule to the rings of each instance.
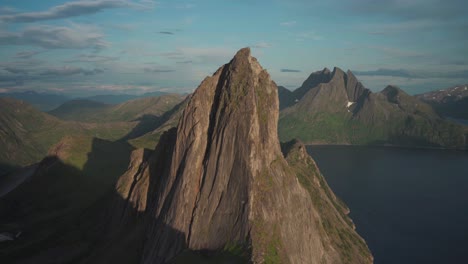
[[[50,111],[70,100],[91,100],[91,101],[105,103],[105,104],[120,104],[129,100],[134,100],[138,98],[146,98],[146,97],[155,97],[155,96],[161,96],[165,94],[167,93],[151,92],[151,93],[145,93],[142,95],[108,94],[108,95],[94,95],[94,96],[89,96],[89,97],[73,98],[73,97],[69,97],[69,96],[65,96],[61,94],[25,91],[25,92],[0,93],[0,97],[10,97],[10,98],[22,100],[40,109],[41,111]]]

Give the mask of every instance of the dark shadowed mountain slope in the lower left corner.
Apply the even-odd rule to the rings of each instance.
[[[94,138],[83,170],[57,156],[42,160],[31,178],[0,199],[0,233],[21,232],[0,243],[2,263],[71,263],[88,252],[102,234],[97,208],[110,200],[132,150],[126,142]]]

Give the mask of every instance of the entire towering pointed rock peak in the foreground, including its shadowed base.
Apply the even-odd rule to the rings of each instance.
[[[280,146],[278,107],[275,83],[240,50],[200,84],[154,151],[134,152],[109,211],[112,239],[87,261],[125,254],[180,263],[195,252],[254,263],[371,263],[304,146]],[[137,246],[121,252],[127,245]]]

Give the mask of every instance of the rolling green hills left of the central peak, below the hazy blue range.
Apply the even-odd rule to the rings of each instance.
[[[174,122],[170,110],[183,99],[180,95],[167,95],[119,105],[76,100],[65,103],[51,115],[24,101],[0,97],[0,175],[16,166],[40,161],[63,139],[123,139],[135,141],[138,147],[154,147],[164,129],[171,127],[164,124]],[[158,130],[160,126],[164,129]]]

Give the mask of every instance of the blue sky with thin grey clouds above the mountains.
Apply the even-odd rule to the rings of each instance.
[[[0,92],[192,92],[251,47],[289,89],[324,67],[373,91],[468,83],[466,0],[0,2]]]

